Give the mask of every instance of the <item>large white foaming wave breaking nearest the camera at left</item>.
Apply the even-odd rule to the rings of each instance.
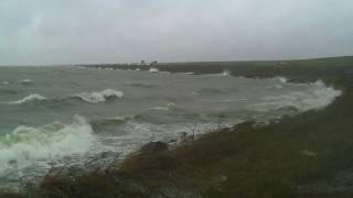
[[[0,175],[74,154],[84,154],[95,141],[92,127],[79,116],[73,122],[33,128],[20,125],[0,136]],[[39,165],[38,165],[39,166]]]

